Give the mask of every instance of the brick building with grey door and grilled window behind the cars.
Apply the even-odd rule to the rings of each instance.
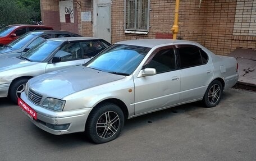
[[[42,21],[54,29],[115,43],[172,38],[175,0],[40,0]],[[256,0],[180,0],[178,39],[216,54],[256,48]]]

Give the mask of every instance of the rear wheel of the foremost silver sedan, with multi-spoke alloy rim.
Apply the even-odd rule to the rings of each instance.
[[[212,81],[204,94],[203,103],[205,107],[215,107],[218,103],[220,103],[222,95],[223,88],[221,82],[218,80]]]

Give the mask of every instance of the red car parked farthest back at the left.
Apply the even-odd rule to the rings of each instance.
[[[53,30],[53,28],[43,25],[9,25],[0,29],[0,45],[6,45],[19,36],[35,30]]]

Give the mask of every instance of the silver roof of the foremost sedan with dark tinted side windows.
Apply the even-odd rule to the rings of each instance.
[[[122,42],[117,42],[116,44],[125,45],[136,45],[141,47],[153,48],[157,45],[162,44],[173,44],[173,43],[194,43],[188,40],[173,40],[173,39],[136,39],[136,40],[125,40]]]

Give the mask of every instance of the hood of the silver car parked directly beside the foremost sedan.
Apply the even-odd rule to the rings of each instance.
[[[24,61],[16,57],[2,59],[0,56],[0,72],[35,65],[36,63]]]

